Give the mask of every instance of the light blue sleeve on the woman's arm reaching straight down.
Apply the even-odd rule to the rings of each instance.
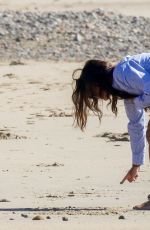
[[[124,100],[125,110],[129,119],[128,132],[132,149],[132,163],[144,164],[145,158],[145,112],[141,106],[137,106],[133,99]]]

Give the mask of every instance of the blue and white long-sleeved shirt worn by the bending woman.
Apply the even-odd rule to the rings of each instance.
[[[146,146],[144,108],[150,106],[150,53],[123,58],[115,66],[113,87],[139,95],[134,99],[125,99],[124,104],[129,119],[132,162],[141,165]]]

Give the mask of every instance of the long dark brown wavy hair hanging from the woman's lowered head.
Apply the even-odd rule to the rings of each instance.
[[[99,87],[100,91],[107,93],[108,105],[111,105],[112,112],[117,115],[118,99],[131,99],[137,95],[132,95],[123,91],[116,90],[112,87],[114,66],[106,61],[88,60],[83,69],[76,69],[73,72],[75,87],[72,94],[74,104],[74,118],[77,126],[84,130],[87,123],[89,110],[98,115],[99,120],[102,118],[102,110],[99,107],[101,98],[94,96],[92,87]],[[81,71],[80,77],[75,78],[78,71]],[[101,100],[102,102],[103,100]]]

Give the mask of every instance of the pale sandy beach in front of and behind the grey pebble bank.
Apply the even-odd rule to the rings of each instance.
[[[102,6],[149,16],[150,1],[91,2],[2,0],[0,9],[62,11]],[[85,132],[73,126],[72,72],[82,65],[0,63],[0,230],[150,227],[150,212],[133,210],[150,193],[148,153],[138,180],[120,184],[131,165],[123,102],[117,119],[104,108],[101,125],[91,115]],[[34,221],[35,216],[41,220]]]

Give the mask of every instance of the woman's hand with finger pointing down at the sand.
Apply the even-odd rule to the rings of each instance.
[[[133,165],[132,168],[125,175],[120,184],[123,184],[126,180],[130,183],[135,181],[138,178],[138,172],[140,171],[140,165]]]

